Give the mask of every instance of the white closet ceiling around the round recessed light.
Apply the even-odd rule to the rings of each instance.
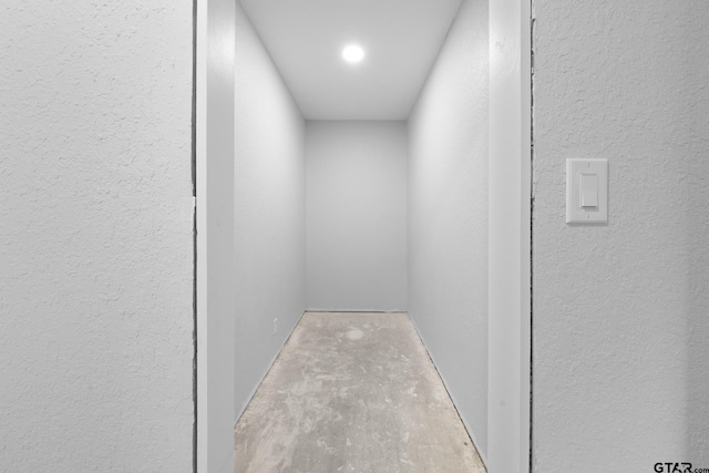
[[[405,120],[461,0],[242,0],[307,120]],[[358,43],[364,60],[342,60]]]

